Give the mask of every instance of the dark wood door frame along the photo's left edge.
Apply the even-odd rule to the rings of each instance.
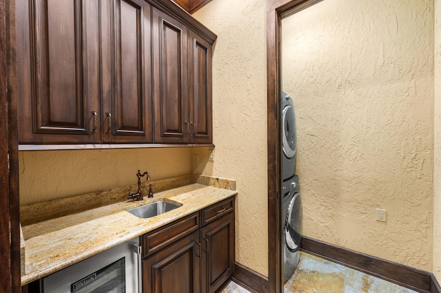
[[[15,1],[0,0],[0,291],[21,292]]]

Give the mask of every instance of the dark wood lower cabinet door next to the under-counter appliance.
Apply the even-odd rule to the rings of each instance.
[[[144,293],[201,292],[199,232],[143,260]]]

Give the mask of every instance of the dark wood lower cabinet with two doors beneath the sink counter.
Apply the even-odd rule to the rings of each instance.
[[[185,223],[189,221],[199,223],[198,217],[199,213],[195,213],[150,232],[141,237],[141,243],[147,248],[150,242],[154,242],[154,235],[162,235],[163,231],[174,238],[173,230],[187,227]],[[235,261],[234,197],[201,210],[201,217],[203,221],[198,230],[162,246],[158,252],[150,255],[145,252],[143,293],[214,293],[232,276]]]

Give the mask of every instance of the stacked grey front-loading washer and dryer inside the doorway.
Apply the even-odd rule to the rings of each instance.
[[[294,101],[282,94],[283,122],[283,263],[284,281],[294,273],[298,265],[302,232],[302,202],[298,176],[296,175],[296,116]]]

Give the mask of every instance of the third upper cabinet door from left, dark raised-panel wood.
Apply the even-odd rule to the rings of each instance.
[[[189,141],[188,32],[153,8],[154,141]]]

